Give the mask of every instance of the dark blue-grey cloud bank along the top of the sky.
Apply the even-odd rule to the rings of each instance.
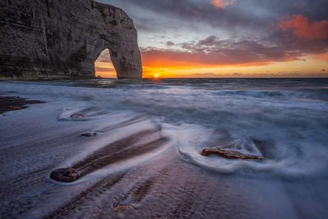
[[[125,0],[105,1],[122,7],[134,18],[137,28],[163,28],[155,25],[162,23],[159,17],[176,19],[179,26],[181,21],[191,23],[205,22],[212,27],[234,29],[236,27],[263,28],[272,21],[285,15],[301,14],[313,20],[324,20],[328,16],[328,1],[326,0],[237,0],[226,9],[217,9],[211,1],[206,0]],[[140,19],[145,12],[153,12],[153,17]]]

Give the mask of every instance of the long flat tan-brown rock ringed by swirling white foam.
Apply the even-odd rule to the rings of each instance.
[[[229,159],[257,159],[257,160],[267,160],[265,157],[251,155],[247,153],[241,153],[235,150],[222,150],[222,149],[204,149],[202,151],[203,156],[208,156],[210,154],[217,154],[222,157],[226,157]]]

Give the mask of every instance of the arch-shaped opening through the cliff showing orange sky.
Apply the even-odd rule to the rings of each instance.
[[[111,53],[109,49],[104,49],[94,62],[94,70],[96,77],[116,78],[117,72],[111,60]]]

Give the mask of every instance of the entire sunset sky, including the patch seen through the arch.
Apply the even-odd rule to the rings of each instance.
[[[327,0],[99,0],[133,19],[143,77],[328,77]],[[116,77],[108,50],[96,75]]]

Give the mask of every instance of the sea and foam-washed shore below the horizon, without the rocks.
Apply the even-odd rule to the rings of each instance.
[[[0,95],[44,101],[0,117],[2,218],[327,218],[327,78],[1,81]],[[77,181],[49,178],[88,157]]]

